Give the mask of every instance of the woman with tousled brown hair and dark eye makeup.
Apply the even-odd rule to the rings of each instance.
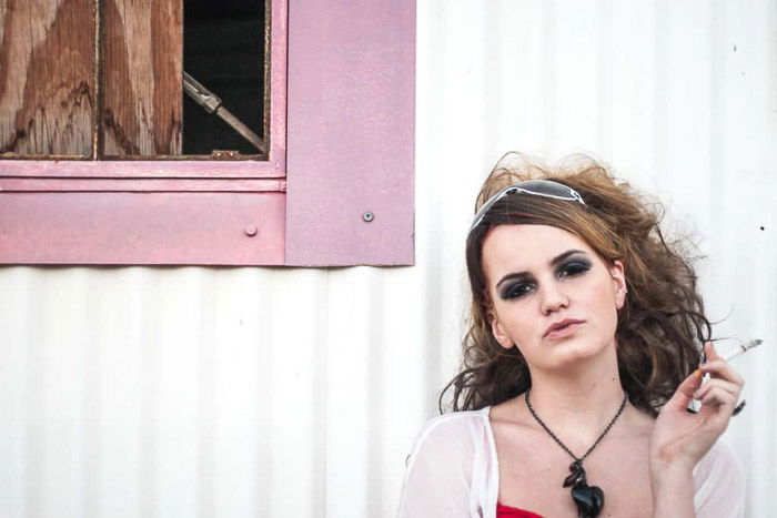
[[[464,368],[446,388],[462,412],[416,440],[401,517],[744,512],[716,443],[743,382],[702,347],[694,271],[656,205],[573,162],[497,167],[481,191]]]

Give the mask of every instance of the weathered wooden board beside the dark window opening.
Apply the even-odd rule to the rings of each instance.
[[[104,154],[180,154],[182,0],[103,1]]]

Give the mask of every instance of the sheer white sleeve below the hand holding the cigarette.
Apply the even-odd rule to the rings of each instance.
[[[694,469],[698,517],[745,516],[745,470],[734,450],[718,440]]]

